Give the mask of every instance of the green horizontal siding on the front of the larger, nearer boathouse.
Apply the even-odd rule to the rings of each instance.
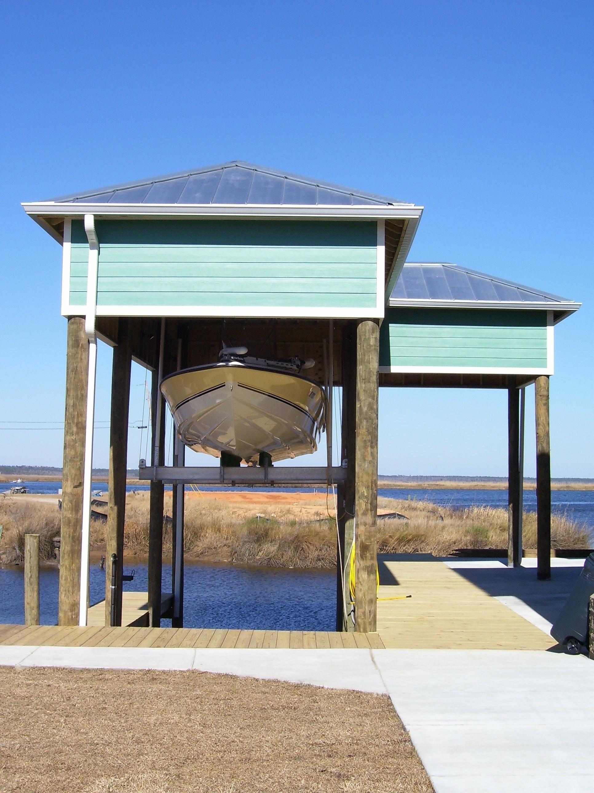
[[[377,227],[365,221],[104,220],[97,305],[375,308]],[[73,221],[70,305],[89,247]]]

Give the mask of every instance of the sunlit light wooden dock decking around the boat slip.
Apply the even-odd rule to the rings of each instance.
[[[441,561],[380,557],[377,633],[149,628],[146,592],[124,595],[128,626],[105,627],[105,603],[86,628],[0,626],[0,645],[86,647],[241,647],[285,649],[524,649],[556,642]],[[411,595],[406,600],[402,596]],[[398,600],[396,600],[398,599]],[[169,596],[163,608],[169,607]],[[92,613],[93,623],[90,623]],[[95,620],[97,620],[95,622]]]

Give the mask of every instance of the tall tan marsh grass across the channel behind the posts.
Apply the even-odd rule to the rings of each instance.
[[[280,497],[280,496],[279,496]],[[298,497],[297,497],[298,498]],[[330,569],[336,565],[336,525],[332,502],[328,514],[325,499],[280,503],[270,500],[242,503],[222,499],[188,498],[185,507],[185,556],[196,561],[235,562],[285,568]],[[166,498],[166,515],[171,499]],[[379,499],[379,512],[399,512],[406,520],[379,519],[380,554],[425,553],[448,556],[459,548],[483,550],[507,547],[506,509],[439,507],[425,500]],[[50,504],[15,500],[0,503],[0,523],[5,533],[2,547],[6,561],[23,559],[25,534],[40,534],[41,558],[53,557],[53,538],[59,536],[60,514]],[[105,523],[93,521],[93,550],[105,550]],[[124,550],[128,556],[144,557],[148,551],[149,497],[128,497]],[[554,548],[588,548],[586,527],[567,515],[551,518]],[[163,528],[163,554],[171,556],[171,523]],[[524,513],[524,548],[536,547],[536,515]]]

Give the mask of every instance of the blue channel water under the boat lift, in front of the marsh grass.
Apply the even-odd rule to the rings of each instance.
[[[131,567],[126,565],[124,572]],[[124,592],[147,592],[147,565],[135,566]],[[163,565],[163,591],[171,569]],[[105,598],[105,573],[90,570],[91,603]],[[185,565],[184,625],[188,628],[334,630],[336,575],[317,570],[280,570],[234,565]],[[58,570],[40,571],[40,622],[58,620]],[[24,623],[22,569],[0,569],[0,623]],[[167,620],[163,625],[170,625]]]

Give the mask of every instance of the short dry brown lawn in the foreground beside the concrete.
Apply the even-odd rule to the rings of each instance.
[[[387,696],[201,672],[0,669],[0,787],[430,793]]]

